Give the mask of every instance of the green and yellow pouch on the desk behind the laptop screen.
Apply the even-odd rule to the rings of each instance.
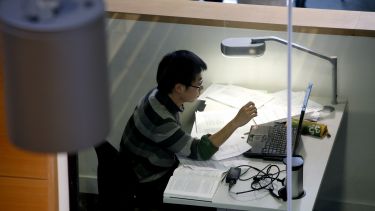
[[[298,119],[292,119],[292,127],[298,127]],[[303,120],[302,122],[302,135],[310,135],[319,138],[330,137],[328,127],[325,124]]]

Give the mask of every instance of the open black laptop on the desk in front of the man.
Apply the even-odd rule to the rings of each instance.
[[[301,141],[302,122],[305,116],[307,102],[310,97],[312,83],[306,89],[305,98],[297,128],[292,129],[292,153],[296,154]],[[286,157],[287,132],[286,124],[282,122],[271,122],[258,126],[251,126],[247,143],[251,149],[243,155],[249,158],[262,158],[264,160],[281,161]]]

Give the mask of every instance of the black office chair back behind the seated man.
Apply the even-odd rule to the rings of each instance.
[[[101,211],[134,210],[137,207],[136,175],[108,141],[95,147],[98,157],[98,203]]]

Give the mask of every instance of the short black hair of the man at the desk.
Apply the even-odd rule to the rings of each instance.
[[[158,89],[170,93],[177,83],[190,86],[196,76],[206,69],[206,63],[193,52],[178,50],[169,53],[159,63],[156,75]]]

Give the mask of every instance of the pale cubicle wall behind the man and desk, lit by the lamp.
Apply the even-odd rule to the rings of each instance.
[[[223,23],[225,25],[225,23]],[[118,147],[122,130],[138,99],[155,86],[158,62],[166,53],[187,49],[202,57],[208,70],[204,85],[233,83],[253,89],[277,91],[286,88],[286,46],[267,44],[264,56],[227,58],[220,42],[235,36],[278,36],[286,33],[189,24],[132,20],[108,20],[109,64],[112,102],[110,142]],[[338,94],[348,101],[348,111],[328,165],[319,195],[319,210],[344,210],[343,206],[362,205],[375,209],[375,39],[367,37],[295,33],[294,42],[327,56],[338,57]],[[322,59],[295,50],[293,89],[303,90],[312,81],[312,95],[331,96],[331,65]],[[339,100],[340,101],[340,100]],[[183,121],[191,121],[188,105]],[[96,155],[92,149],[81,152],[82,192],[96,192]],[[321,201],[321,203],[320,203]],[[324,203],[323,203],[324,202]],[[334,205],[332,207],[332,205]]]

